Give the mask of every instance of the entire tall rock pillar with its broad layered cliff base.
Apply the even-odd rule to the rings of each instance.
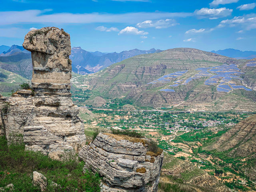
[[[32,90],[0,98],[6,138],[21,134],[27,149],[45,154],[79,151],[86,138],[70,93],[69,34],[55,27],[31,30],[23,47],[32,56]]]

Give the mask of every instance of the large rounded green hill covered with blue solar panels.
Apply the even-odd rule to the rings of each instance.
[[[76,76],[73,83],[78,93],[87,89],[86,97],[124,98],[138,106],[254,111],[255,68],[253,60],[175,48],[128,58],[100,72]]]

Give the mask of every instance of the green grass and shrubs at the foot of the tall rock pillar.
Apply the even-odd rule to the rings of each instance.
[[[77,155],[66,152],[64,161],[52,160],[40,152],[25,150],[23,142],[7,145],[4,136],[0,137],[0,187],[10,183],[13,192],[40,192],[32,184],[32,173],[38,171],[51,181],[59,184],[58,188],[48,185],[46,192],[100,192],[100,176],[92,172],[83,172],[84,162]]]

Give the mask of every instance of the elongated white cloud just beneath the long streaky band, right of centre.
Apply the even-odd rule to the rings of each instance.
[[[146,20],[142,23],[138,23],[137,26],[139,28],[150,28],[154,27],[156,29],[162,29],[162,28],[168,28],[174,25],[177,25],[176,21],[174,19],[161,19],[157,21],[152,21],[152,20]]]

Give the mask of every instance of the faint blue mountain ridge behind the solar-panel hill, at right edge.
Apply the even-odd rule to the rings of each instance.
[[[256,58],[256,51],[240,51],[237,49],[224,49],[224,50],[211,51],[211,52],[224,55],[227,57],[236,58],[236,59]]]

